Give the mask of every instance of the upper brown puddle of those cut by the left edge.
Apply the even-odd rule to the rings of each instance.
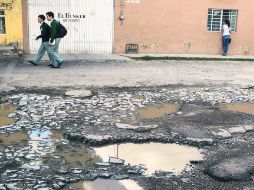
[[[9,118],[8,115],[16,110],[17,108],[14,106],[0,104],[0,127],[15,123],[15,119]]]

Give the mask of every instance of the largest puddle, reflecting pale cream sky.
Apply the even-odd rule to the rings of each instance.
[[[120,144],[95,148],[98,156],[103,161],[108,161],[110,156],[125,160],[125,164],[144,164],[147,174],[156,170],[169,171],[180,174],[191,160],[202,160],[202,155],[197,148],[177,144]]]

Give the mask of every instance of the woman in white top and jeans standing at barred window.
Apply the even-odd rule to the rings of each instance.
[[[230,22],[229,20],[225,20],[223,22],[223,28],[222,28],[222,46],[223,46],[223,56],[226,56],[228,53],[228,45],[231,41],[231,28],[230,28]]]

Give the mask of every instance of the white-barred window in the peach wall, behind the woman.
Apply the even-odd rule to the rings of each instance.
[[[237,29],[237,10],[230,9],[208,9],[207,30],[211,32],[220,32],[223,21],[229,20],[231,30],[236,32]]]

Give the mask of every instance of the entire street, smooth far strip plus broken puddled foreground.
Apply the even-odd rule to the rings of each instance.
[[[0,189],[254,189],[254,66],[0,60]]]

